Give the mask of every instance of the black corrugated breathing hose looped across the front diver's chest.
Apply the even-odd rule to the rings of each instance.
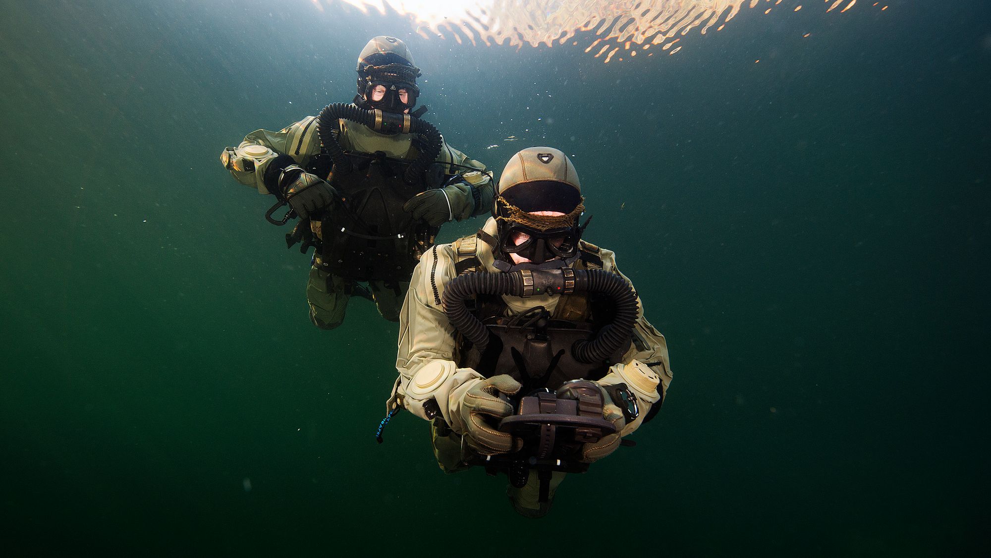
[[[571,272],[572,270],[569,270]],[[605,294],[615,305],[612,322],[606,324],[594,339],[578,341],[572,347],[575,359],[591,364],[608,359],[625,349],[633,335],[638,313],[636,294],[626,279],[602,270],[574,270],[565,276],[561,270],[533,270],[508,274],[477,272],[451,279],[444,286],[441,303],[447,319],[479,351],[489,345],[489,329],[468,309],[465,301],[476,294],[532,294],[590,292]],[[573,281],[573,284],[572,284]]]

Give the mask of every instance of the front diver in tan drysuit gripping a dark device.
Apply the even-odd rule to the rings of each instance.
[[[441,469],[453,473],[468,468],[479,456],[519,449],[519,440],[495,429],[500,418],[513,413],[505,396],[521,394],[524,385],[525,390],[553,390],[569,380],[592,380],[605,397],[603,417],[617,432],[585,444],[579,459],[585,463],[602,459],[659,408],[672,378],[665,339],[646,320],[633,291],[631,339],[626,337],[617,344],[619,349],[611,362],[582,365],[570,354],[575,333],[579,337],[595,335],[608,319],[607,302],[577,292],[528,297],[478,295],[472,312],[498,334],[501,349],[496,353],[487,349],[483,355],[469,346],[442,304],[446,286],[456,277],[548,269],[562,273],[598,269],[619,274],[612,252],[581,240],[585,227],[579,224],[579,217],[584,198],[575,167],[563,153],[544,147],[519,152],[502,171],[496,191],[495,217],[477,235],[434,246],[413,272],[399,316],[399,378],[388,409],[391,414],[404,407],[432,420],[434,454]],[[609,277],[625,279],[621,275]],[[628,286],[624,284],[624,288]],[[533,352],[524,346],[533,338],[532,330],[526,325],[514,326],[514,316],[525,317],[528,323],[542,317],[545,324],[557,326],[556,330],[547,329],[551,347],[545,348],[544,354],[560,353],[550,364],[528,360]],[[509,358],[510,352],[516,354]],[[521,368],[545,367],[549,367],[547,373],[537,381],[520,372]],[[625,396],[635,396],[639,404],[635,417],[621,412],[610,399],[609,393],[614,395],[615,391],[609,390],[621,384],[628,388]],[[554,473],[551,498],[563,478],[563,473]],[[509,489],[510,501],[518,512],[541,516],[548,511],[550,501],[538,502],[536,487],[537,483],[528,483],[522,489]]]

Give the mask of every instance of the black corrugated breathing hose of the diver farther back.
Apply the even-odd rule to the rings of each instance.
[[[316,129],[320,136],[320,144],[334,161],[334,167],[337,167],[336,171],[341,174],[351,172],[351,160],[341,149],[341,145],[332,132],[336,128],[335,121],[342,118],[368,126],[376,132],[384,134],[417,134],[423,137],[426,147],[420,152],[419,157],[406,168],[406,173],[403,175],[403,180],[407,184],[415,182],[420,174],[437,160],[444,142],[440,132],[434,128],[433,124],[415,116],[389,113],[378,109],[365,110],[349,103],[331,103],[320,111]]]

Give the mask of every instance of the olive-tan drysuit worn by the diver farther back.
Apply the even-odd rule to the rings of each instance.
[[[347,120],[340,121],[340,134],[338,143],[346,151],[362,153],[384,152],[387,157],[410,159],[413,157],[412,134],[380,134],[367,126],[355,124]],[[288,155],[300,167],[306,167],[310,160],[320,153],[320,139],[317,134],[317,119],[315,116],[306,118],[283,128],[278,132],[268,130],[256,130],[248,134],[241,142],[239,150],[246,146],[263,146],[269,148],[274,155],[263,162],[256,164],[255,171],[231,170],[231,174],[242,184],[253,186],[260,193],[270,193],[266,187],[263,177],[266,168],[275,160],[277,155]],[[411,153],[411,151],[413,153]],[[439,163],[455,164],[465,167],[472,167],[485,170],[485,165],[478,161],[469,159],[465,154],[447,145],[441,146],[440,155],[437,157]],[[470,169],[460,167],[448,167],[449,173],[464,174]],[[326,176],[320,176],[326,178]],[[468,184],[457,184],[471,196],[468,191]],[[491,178],[483,174],[482,181],[474,184],[480,196],[480,202],[472,208],[466,208],[464,214],[454,215],[455,220],[467,219],[473,215],[483,215],[489,212],[493,203],[493,182]],[[398,319],[400,301],[406,290],[407,282],[397,281],[393,284],[386,284],[385,281],[371,281],[369,286],[372,295],[375,297],[379,312],[387,320]],[[345,279],[327,274],[315,267],[310,270],[309,281],[306,285],[306,299],[310,308],[310,319],[313,323],[324,329],[337,327],[344,321],[345,311],[348,306],[348,298],[351,295],[354,284]]]

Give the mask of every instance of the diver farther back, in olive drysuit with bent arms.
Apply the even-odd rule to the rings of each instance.
[[[355,97],[355,106],[369,111],[378,109],[376,114],[379,116],[382,113],[388,113],[386,117],[398,115],[400,121],[404,115],[418,117],[423,110],[411,112],[419,94],[415,82],[419,70],[402,41],[391,37],[376,37],[370,41],[359,56],[358,74],[359,94]],[[405,118],[407,122],[410,119],[409,116]],[[469,159],[441,139],[440,153],[434,161],[442,165],[433,165],[433,174],[440,178],[424,179],[411,190],[403,189],[406,186],[393,176],[401,172],[393,167],[401,167],[402,163],[397,162],[415,160],[427,151],[422,136],[382,133],[344,118],[333,119],[336,130],[320,131],[321,122],[327,121],[308,116],[279,132],[256,130],[246,136],[238,148],[227,148],[221,161],[242,184],[253,186],[261,193],[274,194],[279,201],[291,206],[301,219],[294,231],[300,233],[297,238],[315,238],[317,251],[306,286],[310,319],[314,325],[322,329],[341,325],[352,294],[374,299],[385,319],[398,321],[412,268],[419,256],[430,248],[439,226],[447,221],[461,221],[490,212],[493,204],[491,173],[483,164]],[[378,199],[376,196],[382,192],[386,197],[389,194],[403,196],[399,198],[398,206],[383,203],[378,213],[366,211],[359,215],[358,222],[362,227],[368,227],[367,230],[355,232],[340,226],[339,216],[355,217],[354,207],[349,207],[349,203],[357,196],[347,195],[348,186],[342,185],[340,176],[335,176],[331,169],[326,146],[321,141],[321,138],[327,140],[326,134],[331,132],[345,153],[360,156],[354,159],[359,162],[359,171],[373,176],[372,167],[380,168],[375,174],[379,180],[375,188],[379,189],[374,191],[375,195],[363,192],[365,198],[359,211],[365,211],[369,200]],[[356,178],[350,178],[352,190],[362,188],[361,178],[357,180],[356,185]],[[388,229],[389,222],[397,219],[411,220],[415,234],[406,234],[405,244],[396,249],[394,239],[386,241],[385,236],[376,236],[375,231]],[[300,228],[305,230],[300,231]],[[329,238],[331,235],[336,237]],[[403,237],[402,234],[392,236]],[[412,239],[413,236],[416,238]],[[327,247],[323,252],[321,245]],[[306,245],[303,246],[305,249]],[[362,251],[357,252],[355,246],[360,246]],[[402,254],[384,256],[381,254],[383,247]],[[346,255],[341,255],[342,250]],[[384,275],[381,268],[385,265],[369,262],[370,258],[376,258],[376,253],[380,253],[380,259],[385,259],[385,264],[397,264],[389,267],[391,272]],[[370,271],[376,266],[379,271]],[[367,283],[369,289],[362,283]]]

